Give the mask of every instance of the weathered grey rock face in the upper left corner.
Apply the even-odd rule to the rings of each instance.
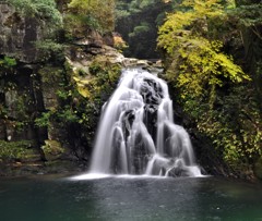
[[[0,3],[1,53],[23,62],[36,59],[34,41],[41,39],[41,28],[34,17],[22,17],[5,3]]]

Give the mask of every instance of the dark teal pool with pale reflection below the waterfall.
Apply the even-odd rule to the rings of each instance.
[[[202,179],[0,181],[3,221],[262,220],[262,186]]]

